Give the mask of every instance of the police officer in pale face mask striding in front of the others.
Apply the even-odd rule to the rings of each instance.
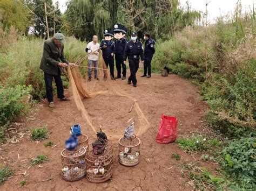
[[[137,38],[137,32],[132,32],[131,41],[127,43],[124,51],[124,63],[126,64],[126,59],[128,57],[131,72],[131,75],[128,79],[128,84],[131,84],[132,82],[133,87],[137,87],[136,73],[139,69],[139,57],[140,60],[144,60],[142,43],[140,43],[140,41],[138,41]]]

